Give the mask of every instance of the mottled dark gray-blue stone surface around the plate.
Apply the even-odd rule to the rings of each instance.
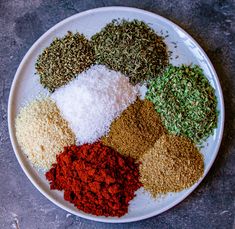
[[[235,228],[235,20],[234,0],[0,0],[0,228]],[[7,101],[16,69],[50,27],[81,11],[113,5],[160,14],[188,31],[218,72],[226,106],[225,133],[209,175],[186,200],[150,219],[103,224],[59,209],[30,183],[8,136]]]

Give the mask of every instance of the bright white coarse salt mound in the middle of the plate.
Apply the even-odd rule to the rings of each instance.
[[[120,72],[93,65],[51,98],[75,133],[77,144],[84,144],[108,132],[111,122],[136,100],[138,89]]]

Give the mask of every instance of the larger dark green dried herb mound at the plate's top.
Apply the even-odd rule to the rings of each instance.
[[[96,62],[142,83],[168,65],[163,37],[142,21],[113,20],[92,36]]]

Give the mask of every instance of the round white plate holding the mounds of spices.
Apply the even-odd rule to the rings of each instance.
[[[138,190],[137,196],[130,203],[128,214],[121,218],[89,215],[79,211],[69,202],[66,202],[62,192],[50,190],[44,175],[31,166],[19,148],[14,128],[14,120],[20,106],[27,101],[30,101],[32,98],[35,98],[39,93],[45,93],[45,89],[39,84],[39,77],[34,75],[35,61],[42,50],[47,47],[55,37],[64,36],[68,30],[84,33],[89,38],[94,33],[100,31],[102,27],[114,18],[143,20],[150,24],[157,33],[160,34],[162,31],[165,35],[168,34],[169,37],[166,38],[165,42],[168,45],[169,50],[173,51],[173,60],[171,61],[173,64],[193,63],[198,64],[203,68],[205,75],[209,79],[211,85],[215,88],[216,96],[218,98],[218,110],[220,112],[218,127],[215,130],[214,135],[207,140],[205,148],[202,150],[205,161],[204,176],[208,173],[219,150],[224,128],[224,103],[218,77],[207,55],[190,35],[171,21],[144,10],[127,7],[105,7],[88,10],[69,17],[48,30],[30,48],[16,72],[9,97],[8,126],[15,155],[22,169],[34,186],[44,196],[74,215],[101,222],[121,223],[146,219],[166,211],[187,197],[202,179],[187,190],[167,195],[166,197],[157,200],[150,198],[143,190]],[[176,42],[177,48],[174,48],[175,45],[171,42]],[[175,58],[176,56],[179,56],[179,58]]]

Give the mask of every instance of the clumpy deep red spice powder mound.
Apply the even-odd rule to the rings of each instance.
[[[120,217],[142,186],[134,159],[100,142],[65,147],[56,159],[46,173],[51,189],[86,213]]]

